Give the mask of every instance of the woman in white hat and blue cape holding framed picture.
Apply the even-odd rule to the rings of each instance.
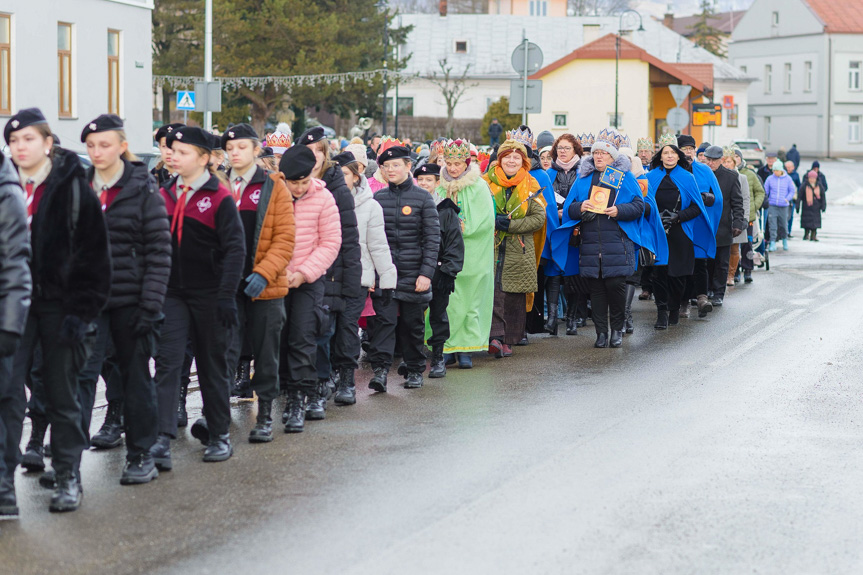
[[[642,242],[644,201],[629,173],[629,158],[618,151],[621,142],[614,129],[600,132],[564,203],[563,221],[552,234],[553,257],[564,264],[567,274],[577,269],[590,286],[595,347],[623,345],[626,277],[636,269],[635,246]],[[608,207],[601,209],[600,203]],[[600,213],[590,211],[594,209]],[[570,238],[579,223],[581,245],[572,250]]]

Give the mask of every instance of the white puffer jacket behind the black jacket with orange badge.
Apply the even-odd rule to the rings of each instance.
[[[360,177],[360,183],[351,190],[351,194],[354,196],[354,211],[357,214],[357,228],[360,232],[363,287],[374,287],[375,272],[377,272],[381,289],[395,289],[398,274],[387,243],[384,211],[372,197],[372,190],[365,176]]]

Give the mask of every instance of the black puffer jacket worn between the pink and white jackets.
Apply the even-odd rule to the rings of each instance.
[[[345,183],[341,168],[333,166],[321,178],[336,200],[339,220],[342,224],[342,247],[336,261],[324,276],[324,304],[333,311],[344,310],[342,297],[362,295],[363,265],[360,251],[360,234],[357,230],[357,214],[354,197]]]

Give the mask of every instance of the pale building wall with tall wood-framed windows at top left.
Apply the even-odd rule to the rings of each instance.
[[[123,118],[133,152],[152,150],[153,0],[3,0],[0,123],[42,110],[63,147],[105,113]]]

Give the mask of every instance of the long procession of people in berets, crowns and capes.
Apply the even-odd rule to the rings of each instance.
[[[86,125],[85,169],[36,108],[4,129],[0,518],[18,515],[19,465],[53,489],[51,511],[77,509],[82,452],[124,435],[122,484],[170,470],[193,362],[190,432],[203,461],[225,461],[232,395],[256,401],[248,441],[266,443],[281,396],[287,433],[330,401],[354,405],[361,357],[386,393],[394,364],[421,388],[427,369],[510,357],[561,323],[574,336],[590,320],[596,348],[619,348],[638,289],[656,330],[703,318],[752,281],[762,208],[768,249],[787,249],[789,207],[813,241],[826,207],[817,165],[798,185],[779,161],[765,176],[688,135],[633,147],[612,128],[520,126],[484,157],[462,139],[335,153],[320,127],[294,140],[284,125],[262,139],[248,124],[169,124],[148,171],[123,130],[109,114]],[[91,437],[100,377],[108,408]]]

